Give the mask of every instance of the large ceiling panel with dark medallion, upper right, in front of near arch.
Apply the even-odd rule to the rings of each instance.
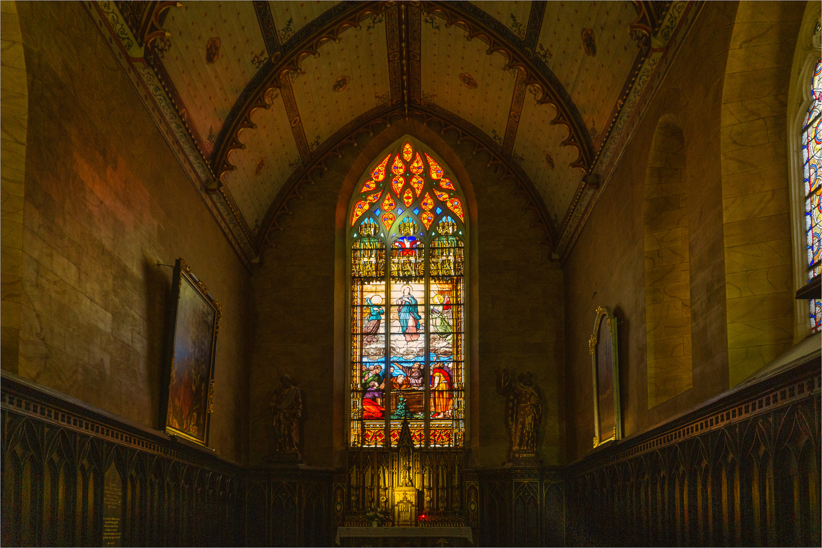
[[[546,4],[536,54],[568,90],[594,142],[639,53],[629,32],[635,19],[631,2]]]

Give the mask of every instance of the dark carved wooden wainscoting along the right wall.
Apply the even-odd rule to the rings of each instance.
[[[820,357],[566,470],[570,546],[819,546]]]

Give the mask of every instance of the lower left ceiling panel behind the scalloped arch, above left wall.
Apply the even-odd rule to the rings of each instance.
[[[270,90],[266,99],[270,108],[257,108],[252,113],[256,129],[240,131],[239,139],[246,149],[229,153],[229,161],[237,169],[223,176],[225,186],[229,187],[242,216],[254,231],[279,189],[301,165],[279,91]]]

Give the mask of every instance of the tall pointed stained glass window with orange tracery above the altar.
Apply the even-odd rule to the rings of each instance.
[[[351,236],[351,447],[464,442],[464,197],[444,163],[399,141],[358,183]]]

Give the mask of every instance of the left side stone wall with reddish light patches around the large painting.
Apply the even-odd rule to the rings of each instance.
[[[29,124],[19,361],[4,339],[3,369],[157,428],[172,271],[158,263],[182,257],[223,306],[210,446],[245,460],[247,270],[83,4],[17,8]],[[4,204],[6,189],[4,175]]]

